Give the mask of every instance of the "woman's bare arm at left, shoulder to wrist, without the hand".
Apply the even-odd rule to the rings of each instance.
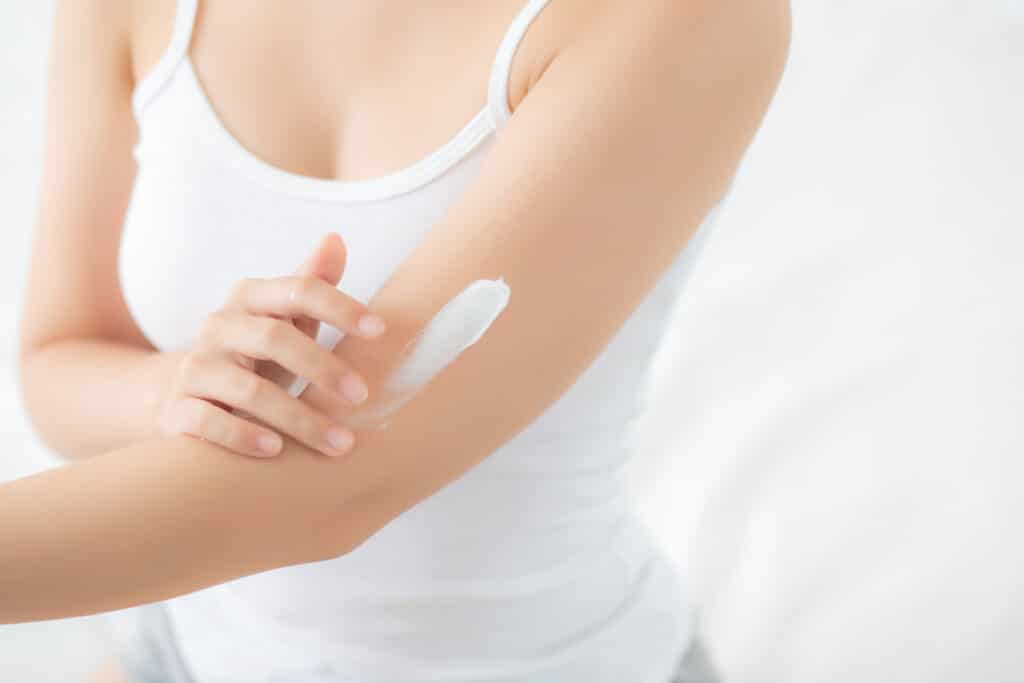
[[[155,436],[158,389],[180,360],[142,336],[118,282],[135,174],[130,4],[63,0],[51,34],[19,370],[38,434],[72,459]]]

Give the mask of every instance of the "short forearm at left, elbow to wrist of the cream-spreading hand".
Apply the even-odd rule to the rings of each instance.
[[[23,400],[36,432],[58,455],[108,453],[158,435],[158,392],[179,355],[100,339],[53,342],[23,354]]]

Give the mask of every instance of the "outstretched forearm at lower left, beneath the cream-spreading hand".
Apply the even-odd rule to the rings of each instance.
[[[325,497],[295,490],[310,477],[282,476],[295,459],[340,464],[291,439],[259,460],[175,436],[0,484],[0,623],[120,609],[343,554]]]

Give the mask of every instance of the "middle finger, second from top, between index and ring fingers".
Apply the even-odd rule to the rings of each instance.
[[[353,405],[365,401],[370,394],[366,380],[344,358],[285,321],[239,311],[218,311],[206,318],[201,340],[208,348],[231,350],[250,358],[275,362]]]

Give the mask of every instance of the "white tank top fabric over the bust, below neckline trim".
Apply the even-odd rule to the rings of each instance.
[[[165,351],[190,348],[239,280],[293,273],[325,232],[345,244],[339,289],[368,302],[443,217],[487,147],[417,191],[339,203],[269,191],[218,159],[162,142],[136,175],[118,268],[130,313]],[[326,326],[321,332],[325,344],[338,338]]]

